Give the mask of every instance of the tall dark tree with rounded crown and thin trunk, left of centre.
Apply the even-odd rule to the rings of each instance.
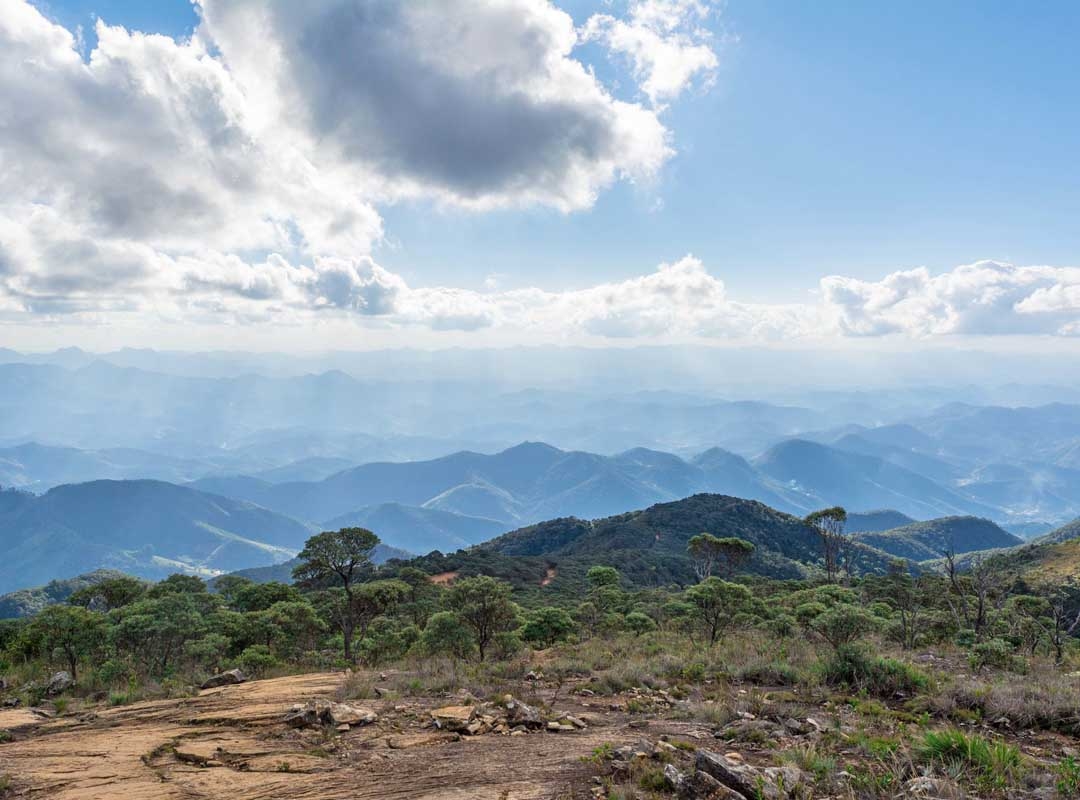
[[[343,597],[329,605],[345,641],[345,659],[352,661],[352,637],[356,628],[353,615],[354,585],[372,566],[372,553],[379,538],[366,528],[341,528],[323,531],[307,541],[293,577],[305,584],[339,583]]]

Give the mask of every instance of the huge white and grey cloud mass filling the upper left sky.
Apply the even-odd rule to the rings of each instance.
[[[671,158],[546,0],[198,0],[190,41],[0,15],[0,307],[397,316],[487,301],[372,260],[377,206],[590,206]]]

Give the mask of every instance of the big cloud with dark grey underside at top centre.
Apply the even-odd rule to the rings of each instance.
[[[590,206],[671,155],[654,112],[616,100],[571,57],[541,0],[200,0],[260,128],[347,163],[381,196],[487,208]]]

